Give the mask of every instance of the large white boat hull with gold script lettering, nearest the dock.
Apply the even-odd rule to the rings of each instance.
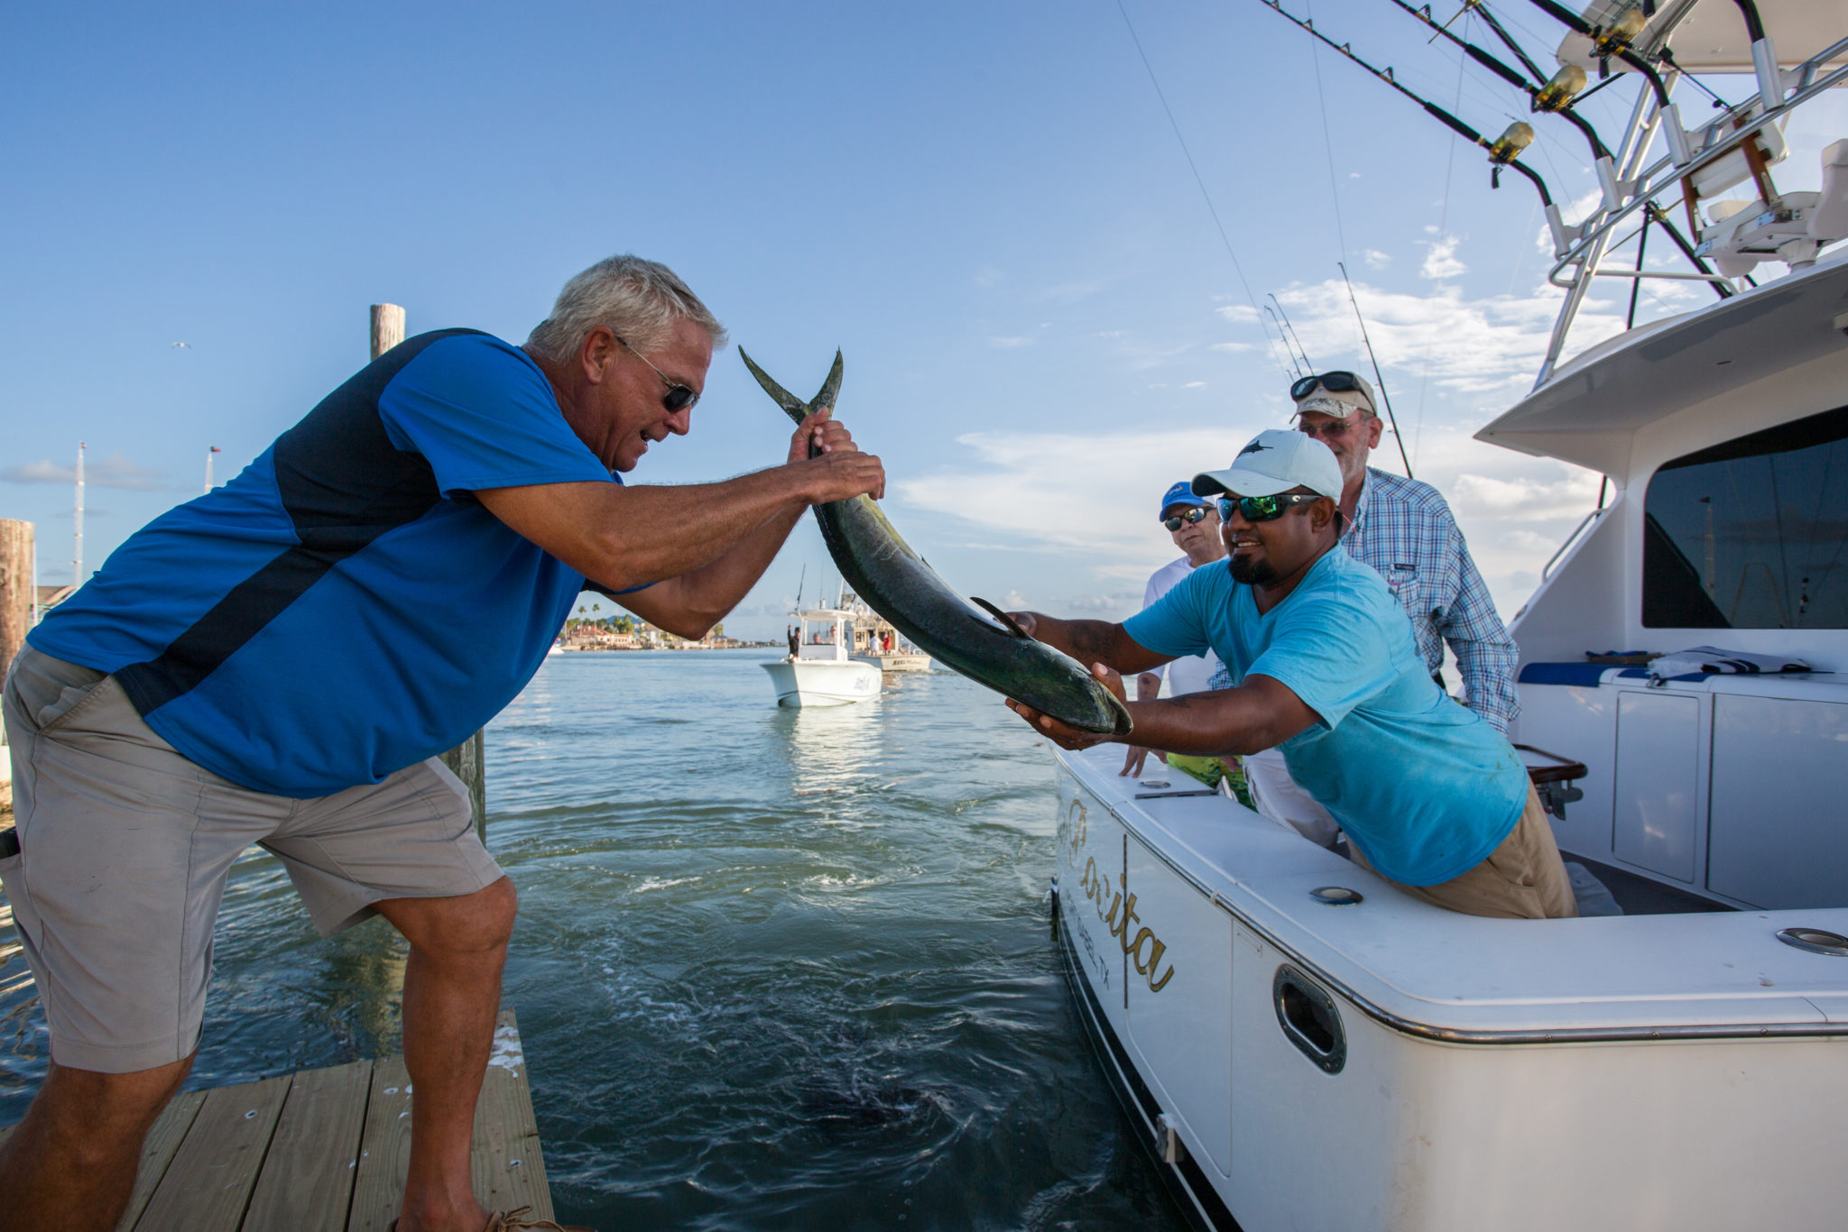
[[[1848,959],[1774,933],[1848,911],[1480,920],[1118,767],[1059,755],[1057,933],[1198,1221],[1841,1226]]]

